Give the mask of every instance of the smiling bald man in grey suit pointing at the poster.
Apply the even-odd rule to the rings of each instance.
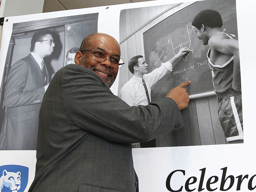
[[[131,143],[183,126],[190,82],[158,102],[130,107],[109,89],[122,63],[118,42],[94,33],[83,40],[75,64],[56,72],[40,110],[29,192],[138,191]]]

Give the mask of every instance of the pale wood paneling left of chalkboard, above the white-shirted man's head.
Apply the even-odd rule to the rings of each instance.
[[[143,55],[142,50],[142,37],[141,37],[141,27],[148,27],[154,25],[159,19],[164,17],[164,14],[158,17],[156,20],[148,23],[152,18],[161,14],[167,9],[172,8],[176,4],[153,6],[153,7],[143,7],[137,9],[122,10],[120,13],[120,48],[121,48],[121,58],[124,60],[125,65],[119,70],[119,86],[118,93],[122,86],[132,77],[132,73],[128,70],[129,60],[136,55]],[[168,14],[168,13],[167,13]],[[148,24],[147,24],[148,23]],[[147,24],[147,25],[146,25]],[[137,31],[137,32],[136,32]],[[135,32],[135,33],[134,33]],[[133,34],[134,33],[134,34]],[[128,36],[133,34],[131,37],[126,39]]]

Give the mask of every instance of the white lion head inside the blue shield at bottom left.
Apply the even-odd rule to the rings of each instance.
[[[20,189],[21,173],[8,172],[6,169],[3,171],[3,175],[0,177],[0,192],[3,187],[8,187],[12,192],[17,192]]]

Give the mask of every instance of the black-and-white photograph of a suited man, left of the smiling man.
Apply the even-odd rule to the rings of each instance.
[[[1,84],[0,150],[35,150],[41,102],[54,74],[74,63],[98,13],[14,23]]]

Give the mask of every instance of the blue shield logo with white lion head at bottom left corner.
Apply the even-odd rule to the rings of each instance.
[[[28,167],[22,165],[0,166],[0,192],[24,192],[28,180]]]

